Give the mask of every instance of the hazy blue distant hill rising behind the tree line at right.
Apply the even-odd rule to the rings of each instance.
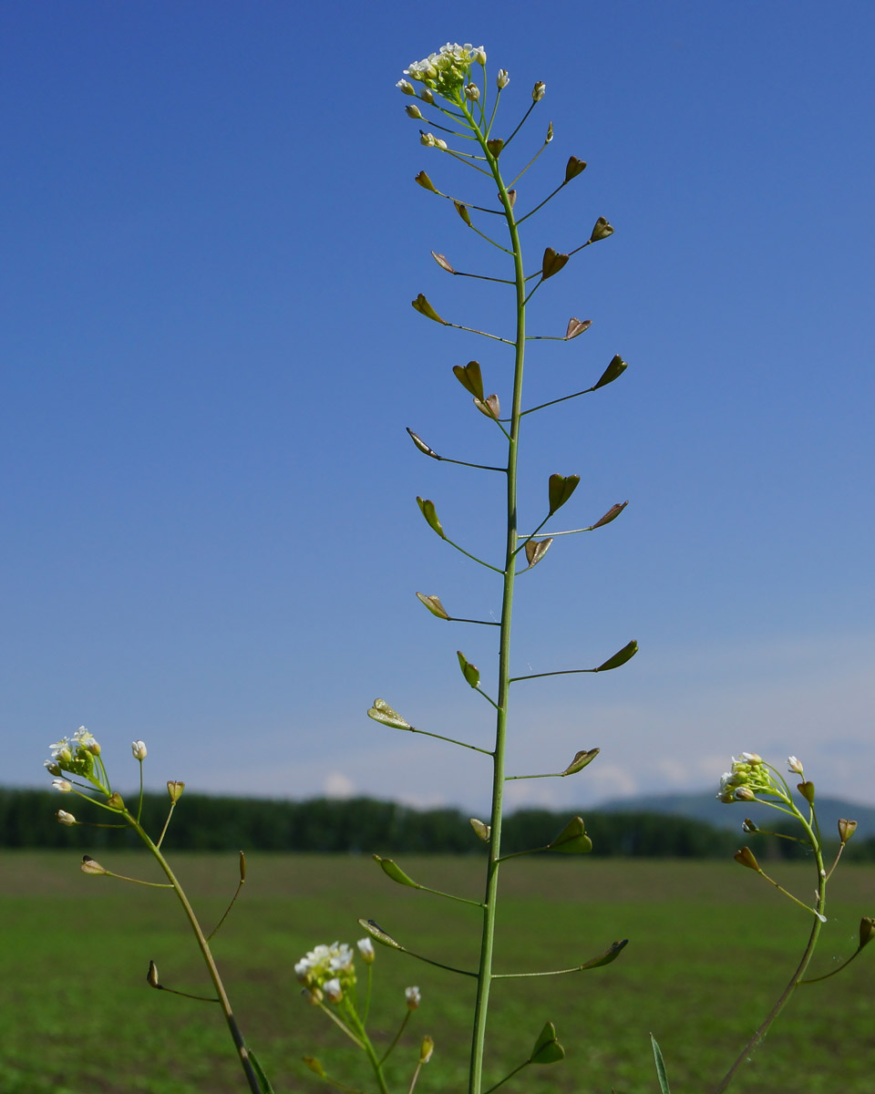
[[[856,821],[860,825],[858,839],[862,836],[868,839],[875,836],[875,806],[847,802],[841,798],[820,798],[815,801],[817,818],[825,838],[836,835],[839,817]],[[777,824],[788,817],[771,810],[768,805],[734,802],[725,805],[718,801],[714,793],[703,794],[641,794],[637,798],[621,798],[609,802],[599,802],[591,806],[593,813],[667,813],[670,816],[688,817],[693,821],[705,821],[715,828],[732,828],[739,830],[745,817],[750,817],[754,824],[768,828],[770,823]]]

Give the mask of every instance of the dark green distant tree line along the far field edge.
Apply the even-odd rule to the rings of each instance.
[[[133,799],[129,799],[131,805]],[[166,794],[145,794],[142,822],[153,836],[167,815]],[[56,819],[66,810],[79,821],[112,822],[105,810],[75,794],[54,790],[0,788],[0,847],[102,848],[141,846],[129,828],[67,827]],[[504,851],[544,847],[573,815],[573,810],[517,810],[504,821]],[[665,813],[583,811],[595,856],[713,859],[731,857],[743,843],[758,858],[803,858],[805,848],[790,839],[745,836],[703,821]],[[488,819],[488,818],[485,818]],[[793,833],[791,823],[775,831]],[[164,847],[190,851],[322,851],[412,853],[482,853],[468,817],[459,810],[415,810],[371,798],[317,798],[304,802],[261,798],[219,798],[186,792],[177,805]],[[875,861],[875,838],[853,840],[849,859]]]

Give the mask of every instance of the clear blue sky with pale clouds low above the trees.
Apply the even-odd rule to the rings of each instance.
[[[535,264],[598,216],[615,235],[533,302],[593,327],[528,358],[526,400],[621,381],[528,419],[522,511],[578,473],[590,523],[520,583],[516,783],[585,806],[714,782],[795,753],[818,789],[875,802],[871,544],[875,10],[820,3],[504,2],[459,22],[395,2],[4,5],[2,679],[5,784],[88,725],[120,785],[354,792],[482,807],[486,764],[365,718],[374,696],[486,744],[500,592],[427,527],[417,494],[500,552],[500,486],[421,456],[497,456],[451,369],[506,357],[417,315],[506,329],[510,302],[429,256],[493,269],[424,168],[401,70],[451,40],[509,69],[498,131],[547,94],[520,186],[586,172],[527,222]],[[522,161],[524,162],[524,160]],[[522,165],[522,163],[521,163]],[[538,347],[539,344],[534,344]],[[487,459],[487,462],[490,462]],[[562,526],[569,526],[569,523]],[[486,577],[485,577],[486,574]],[[485,632],[485,633],[483,633]],[[530,666],[530,668],[528,667]]]

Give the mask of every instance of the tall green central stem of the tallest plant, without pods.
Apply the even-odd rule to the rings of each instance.
[[[480,1094],[482,1090],[483,1046],[486,1044],[489,990],[492,982],[492,945],[495,933],[495,910],[498,901],[499,864],[501,858],[501,822],[504,792],[504,749],[508,731],[508,700],[510,697],[511,659],[511,615],[513,612],[513,583],[516,552],[516,462],[520,441],[520,410],[523,399],[523,360],[525,356],[526,310],[525,275],[520,233],[513,216],[513,206],[501,177],[498,160],[487,147],[486,137],[475,125],[466,104],[462,103],[468,121],[477,132],[480,147],[486,154],[492,175],[499,187],[499,197],[504,207],[504,216],[511,235],[514,261],[514,283],[516,290],[516,337],[514,341],[513,408],[508,440],[508,524],[504,555],[503,596],[501,603],[501,639],[499,645],[499,679],[495,713],[495,749],[492,760],[492,815],[487,865],[486,895],[483,897],[483,927],[480,943],[480,964],[477,975],[477,1001],[471,1036],[471,1059],[468,1078],[469,1094]]]

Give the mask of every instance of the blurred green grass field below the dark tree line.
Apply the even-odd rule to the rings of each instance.
[[[178,873],[205,923],[236,883],[234,856],[178,856]],[[142,856],[104,862],[155,880]],[[423,884],[479,896],[469,859],[405,859]],[[775,868],[778,871],[778,868]],[[786,864],[797,895],[812,868]],[[828,971],[855,946],[875,911],[875,868],[845,866],[816,956]],[[244,1034],[278,1094],[328,1090],[300,1062],[317,1056],[341,1082],[366,1090],[359,1057],[299,992],[292,966],[318,942],[354,942],[376,919],[410,948],[450,964],[476,962],[476,909],[394,885],[369,858],[253,854],[244,894],[214,952]],[[498,982],[488,1076],[528,1054],[548,1019],[567,1059],[526,1069],[502,1091],[655,1094],[649,1034],[660,1041],[674,1094],[705,1092],[725,1071],[792,971],[803,911],[734,862],[516,860],[503,868],[499,971],[562,967],[629,946],[612,965],[540,980]],[[194,939],[172,894],[89,877],[75,856],[0,854],[0,1094],[225,1094],[245,1090],[218,1008],[145,984],[209,993]],[[875,946],[840,976],[804,987],[733,1086],[738,1094],[871,1094],[875,1074]],[[394,1090],[407,1091],[419,1041],[435,1054],[417,1087],[463,1092],[472,981],[377,947],[373,1036],[390,1038],[404,988],[422,1005],[396,1050]]]

